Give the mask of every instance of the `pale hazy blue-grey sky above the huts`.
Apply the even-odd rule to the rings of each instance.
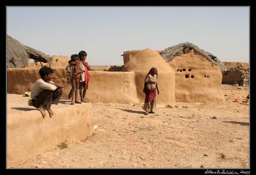
[[[249,62],[250,7],[6,6],[6,34],[48,55],[84,50],[90,65],[123,65],[126,50],[185,42],[220,61]]]

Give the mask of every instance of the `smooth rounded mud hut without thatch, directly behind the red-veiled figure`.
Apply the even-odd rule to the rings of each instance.
[[[157,95],[157,104],[176,104],[175,101],[175,72],[159,55],[156,50],[147,48],[144,50],[130,50],[128,61],[121,72],[133,72],[136,82],[136,94],[139,102],[144,102],[144,80],[152,67],[158,72],[158,88],[161,92]]]

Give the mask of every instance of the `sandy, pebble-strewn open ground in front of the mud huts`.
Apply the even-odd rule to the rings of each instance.
[[[249,86],[222,92],[223,106],[179,102],[148,116],[143,104],[92,103],[90,137],[13,168],[250,168]]]

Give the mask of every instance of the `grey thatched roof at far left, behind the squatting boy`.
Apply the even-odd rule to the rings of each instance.
[[[21,44],[19,41],[7,35],[6,47],[6,65],[11,67],[25,67],[29,65],[29,59],[34,59],[35,62],[48,63],[52,61],[52,57],[44,54],[39,50],[35,50],[29,46]]]

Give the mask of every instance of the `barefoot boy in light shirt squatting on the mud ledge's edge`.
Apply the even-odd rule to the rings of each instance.
[[[41,79],[36,80],[30,94],[33,106],[42,113],[43,119],[46,116],[45,110],[48,111],[50,118],[52,118],[53,112],[50,109],[50,105],[57,105],[63,94],[63,84],[51,81],[52,73],[53,70],[50,67],[42,67],[39,70]]]

